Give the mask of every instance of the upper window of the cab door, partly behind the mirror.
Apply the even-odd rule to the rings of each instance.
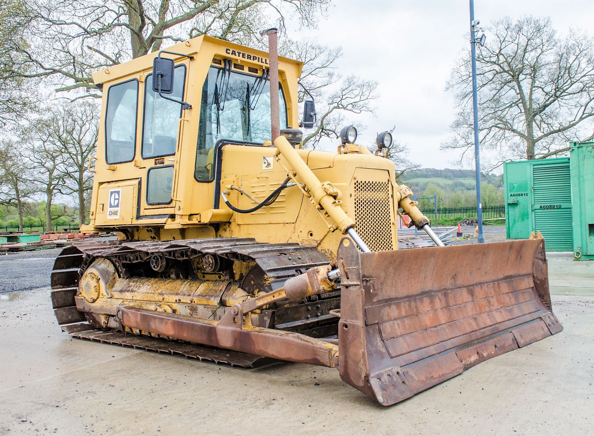
[[[173,93],[168,97],[181,101],[184,97],[185,65],[175,67]],[[143,158],[175,154],[182,106],[153,91],[153,75],[147,75],[144,87]]]

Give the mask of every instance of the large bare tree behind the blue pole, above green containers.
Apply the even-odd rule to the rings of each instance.
[[[497,167],[510,159],[542,159],[568,151],[567,141],[592,139],[593,40],[571,31],[559,37],[549,18],[495,21],[476,55],[481,147]],[[451,71],[461,109],[442,148],[473,149],[470,53]],[[491,168],[492,169],[492,168]]]

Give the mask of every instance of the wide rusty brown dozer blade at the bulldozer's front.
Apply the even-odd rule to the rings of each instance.
[[[563,330],[544,240],[339,252],[340,377],[392,405]]]

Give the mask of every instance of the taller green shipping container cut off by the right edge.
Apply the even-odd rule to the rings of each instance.
[[[594,259],[594,142],[570,142],[573,253]]]

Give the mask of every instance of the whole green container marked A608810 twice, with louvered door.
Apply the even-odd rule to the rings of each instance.
[[[572,251],[569,158],[507,162],[503,180],[507,238],[525,239],[539,231],[546,251]]]

